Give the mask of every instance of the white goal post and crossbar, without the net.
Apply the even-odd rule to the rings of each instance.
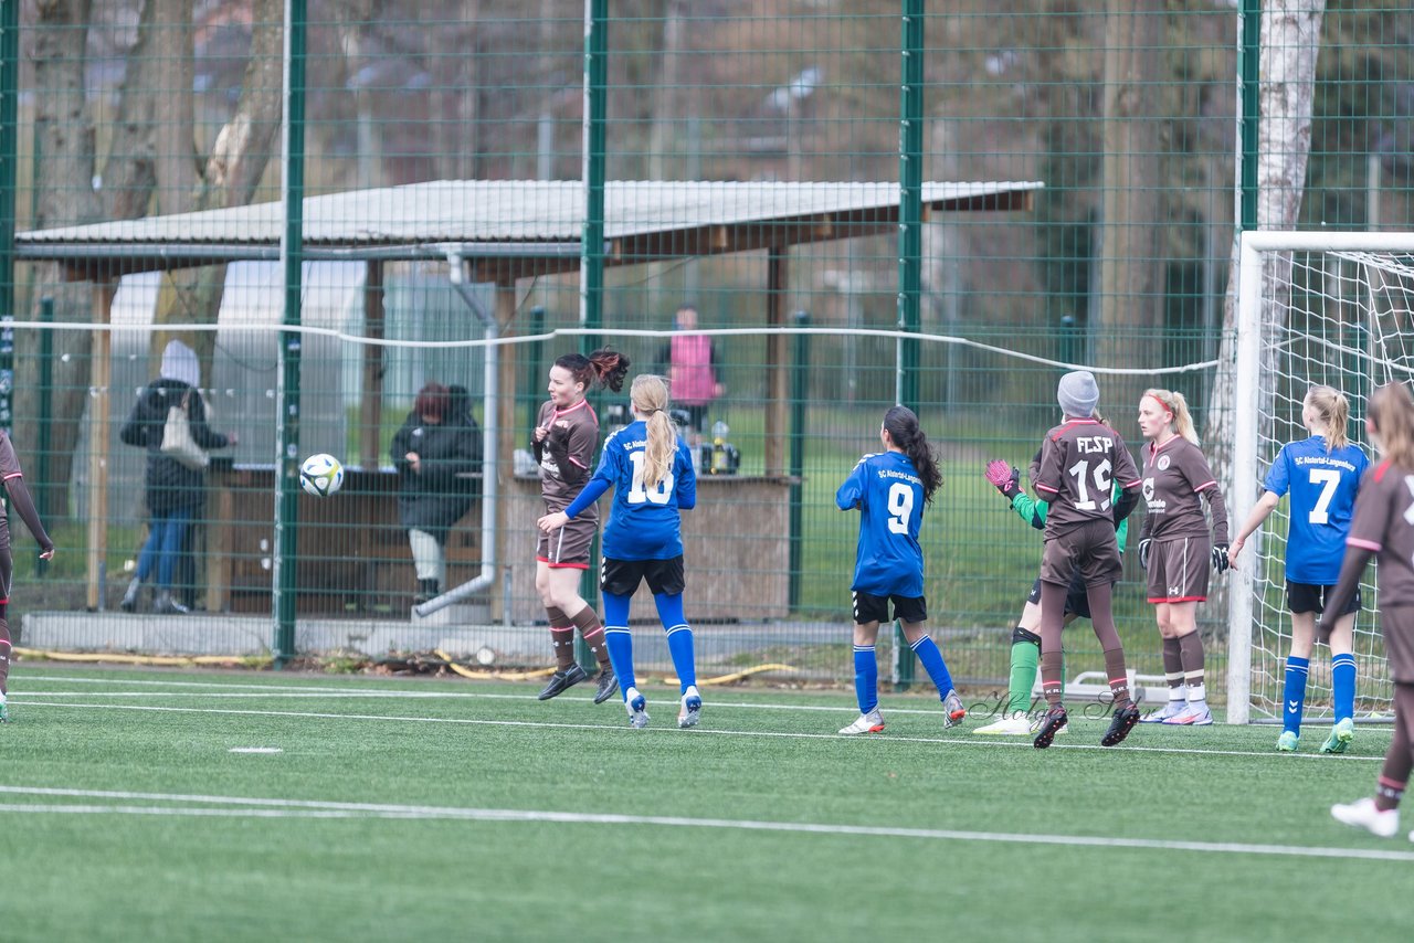
[[[1237,254],[1236,370],[1233,380],[1232,489],[1227,506],[1243,520],[1257,502],[1257,410],[1260,407],[1263,254],[1271,252],[1410,252],[1410,232],[1251,230]],[[1256,536],[1256,534],[1254,534]],[[1254,547],[1260,550],[1260,547]],[[1253,558],[1257,553],[1253,554]],[[1253,567],[1232,571],[1227,594],[1227,722],[1251,721]]]

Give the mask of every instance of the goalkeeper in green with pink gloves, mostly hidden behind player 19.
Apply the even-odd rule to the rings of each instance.
[[[1100,421],[1103,423],[1104,420]],[[1031,459],[1031,476],[1035,475],[1039,462],[1041,452],[1038,451]],[[1045,529],[1049,505],[1045,500],[1031,498],[1031,495],[1021,489],[1021,472],[1017,468],[997,458],[987,462],[986,475],[987,481],[1001,492],[1003,498],[1011,502],[1011,509],[1022,520],[1036,530]],[[1124,553],[1124,537],[1127,533],[1128,520],[1121,520],[1116,533],[1120,553]],[[1070,587],[1066,590],[1065,623],[1070,625],[1076,618],[1090,618],[1090,599],[1086,595],[1085,582],[1080,580],[1079,573],[1076,573],[1070,581]],[[1038,577],[1031,587],[1031,595],[1027,597],[1027,605],[1021,609],[1021,618],[1017,619],[1017,628],[1011,631],[1011,674],[1007,683],[1007,703],[1003,705],[1001,720],[986,727],[978,727],[973,731],[974,734],[1025,737],[1032,732],[1028,711],[1031,708],[1031,690],[1035,687],[1036,672],[1041,663],[1041,636],[1036,633],[1039,628],[1041,580]],[[1063,676],[1065,669],[1062,667]],[[1065,728],[1060,728],[1059,732],[1065,732]]]

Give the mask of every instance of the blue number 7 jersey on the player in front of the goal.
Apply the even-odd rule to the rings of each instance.
[[[1326,454],[1321,435],[1282,445],[1263,486],[1278,498],[1291,491],[1287,580],[1331,587],[1340,578],[1355,493],[1369,464],[1359,445]]]

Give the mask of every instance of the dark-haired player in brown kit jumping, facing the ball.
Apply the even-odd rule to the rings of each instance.
[[[532,434],[532,448],[542,471],[544,513],[564,510],[590,479],[594,452],[600,445],[600,420],[584,394],[594,386],[608,386],[615,392],[622,389],[628,368],[628,358],[608,348],[588,356],[566,353],[550,368],[550,399],[540,406]],[[594,607],[580,595],[580,580],[590,568],[590,544],[594,543],[598,525],[598,510],[590,508],[563,527],[540,533],[534,557],[534,588],[550,616],[550,642],[556,662],[550,683],[540,691],[542,701],[588,677],[574,660],[575,628],[600,663],[594,703],[602,704],[618,690],[608,646],[604,645],[604,625]]]

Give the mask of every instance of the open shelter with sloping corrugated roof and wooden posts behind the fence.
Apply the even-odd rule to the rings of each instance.
[[[923,221],[953,212],[1029,211],[1042,184],[925,182]],[[57,263],[65,277],[93,286],[93,394],[88,426],[88,601],[100,608],[107,556],[109,450],[115,423],[110,399],[112,305],[119,280],[144,271],[226,264],[280,257],[284,219],[279,202],[230,209],[148,216],[134,221],[65,226],[16,235],[16,260]],[[895,232],[899,187],[889,182],[718,182],[609,181],[604,189],[604,242],[590,247],[605,266],[631,266],[724,253],[761,252],[761,288],[768,324],[765,403],[766,482],[785,481],[789,434],[788,291],[792,246]],[[338,192],[303,201],[304,262],[345,262],[365,267],[362,396],[358,462],[378,467],[383,417],[382,339],[383,267],[397,262],[445,263],[452,284],[493,284],[495,304],[479,311],[488,336],[515,336],[518,281],[570,273],[585,254],[585,189],[580,181],[433,181],[404,187]],[[468,305],[478,307],[469,293]],[[158,325],[154,325],[158,327]],[[160,325],[180,329],[182,325]],[[605,331],[612,325],[602,325]],[[471,331],[468,331],[468,339]],[[506,493],[516,441],[518,389],[510,345],[488,355],[484,390],[486,475],[482,509],[482,577],[493,619],[510,614],[516,591],[486,578],[512,550]],[[468,351],[469,355],[477,355]],[[126,410],[126,402],[117,406]],[[117,417],[120,421],[120,417]],[[271,454],[273,462],[276,455]],[[279,509],[280,502],[274,502]],[[279,516],[279,510],[276,515]],[[267,522],[296,526],[297,522]],[[783,534],[788,539],[788,534]],[[747,567],[749,563],[737,566]],[[460,590],[465,594],[469,584]],[[762,592],[773,594],[775,588]],[[454,598],[454,588],[444,597]],[[734,594],[740,598],[742,590]],[[436,602],[436,601],[434,601]],[[437,607],[431,607],[436,609]]]

